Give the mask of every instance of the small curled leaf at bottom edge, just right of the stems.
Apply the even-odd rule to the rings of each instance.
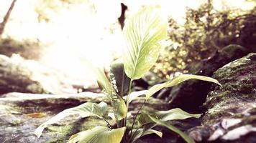
[[[140,139],[140,137],[143,137],[147,134],[157,134],[157,136],[162,137],[163,133],[159,132],[155,129],[132,129],[132,139],[131,142],[135,142],[137,139]]]

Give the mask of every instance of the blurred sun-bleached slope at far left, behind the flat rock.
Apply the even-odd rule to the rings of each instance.
[[[0,54],[0,94],[24,92],[35,94],[77,93],[76,86],[68,84],[63,74],[49,69],[37,61]],[[82,86],[83,87],[83,86]]]

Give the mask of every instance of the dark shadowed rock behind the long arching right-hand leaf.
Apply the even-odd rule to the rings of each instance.
[[[186,69],[191,74],[203,75],[211,77],[214,71],[221,66],[245,56],[247,50],[239,45],[225,46],[221,51],[217,51],[214,56],[209,59],[194,63]],[[200,106],[204,103],[206,95],[211,90],[210,82],[203,82],[199,80],[189,80],[171,90],[168,101],[170,108],[180,107],[187,112],[202,112]]]

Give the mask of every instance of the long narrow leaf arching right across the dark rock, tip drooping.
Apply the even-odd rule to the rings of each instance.
[[[160,89],[163,89],[165,87],[173,87],[173,86],[178,85],[181,82],[184,82],[188,79],[199,79],[199,80],[203,80],[203,81],[207,81],[207,82],[214,82],[215,84],[219,84],[221,86],[221,84],[216,79],[213,79],[211,77],[198,76],[198,75],[192,75],[192,74],[181,74],[180,76],[175,77],[174,79],[172,79],[168,82],[165,82],[163,84],[156,84],[153,87],[151,87],[146,94],[146,98],[147,99],[150,98],[152,96],[152,94],[155,94]]]

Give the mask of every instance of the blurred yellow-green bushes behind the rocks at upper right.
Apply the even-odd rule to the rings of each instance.
[[[252,1],[256,4],[256,1]],[[191,62],[208,59],[216,50],[239,44],[250,51],[256,46],[256,6],[250,10],[216,10],[209,0],[198,9],[187,9],[185,24],[169,20],[168,46],[152,71],[168,79],[176,71],[188,73]]]

